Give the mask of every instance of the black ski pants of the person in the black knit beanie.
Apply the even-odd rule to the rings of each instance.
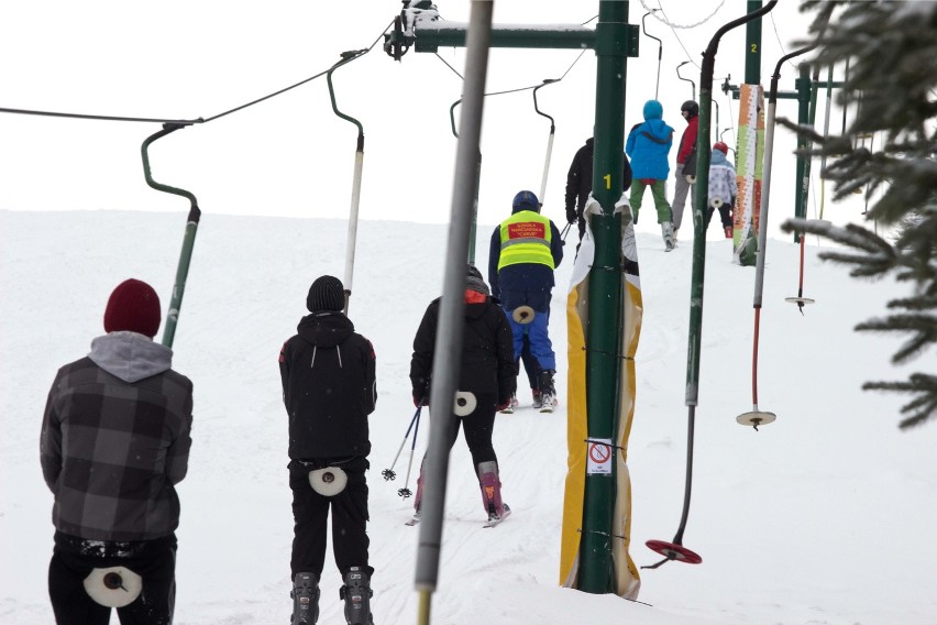
[[[330,464],[341,468],[349,478],[344,490],[327,497],[312,490],[309,472]],[[289,487],[293,491],[293,557],[289,567],[296,573],[322,577],[326,566],[327,523],[332,512],[332,555],[342,577],[352,567],[367,566],[367,480],[366,458],[356,457],[343,462],[293,460],[289,463]]]

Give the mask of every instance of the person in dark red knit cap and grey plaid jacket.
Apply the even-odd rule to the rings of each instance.
[[[159,297],[128,279],[107,335],[58,370],[40,436],[55,503],[48,594],[58,625],[173,621],[179,497],[191,447],[192,383],[153,341]]]

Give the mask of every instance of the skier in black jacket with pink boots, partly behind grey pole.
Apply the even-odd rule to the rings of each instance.
[[[460,409],[453,416],[456,421],[451,428],[452,439],[449,445],[450,448],[455,445],[461,424],[482,489],[482,504],[488,519],[494,519],[510,512],[501,500],[498,459],[492,445],[492,432],[495,427],[495,413],[509,404],[517,387],[514,337],[504,311],[492,300],[488,285],[473,265],[467,267],[464,297],[465,330],[462,336],[462,366],[456,403],[464,401],[465,405],[464,410]],[[440,299],[436,298],[429,304],[414,338],[410,383],[416,405],[429,399]],[[447,418],[451,414],[449,406],[443,406],[438,418]],[[421,468],[414,502],[417,517],[420,513],[423,480]]]

